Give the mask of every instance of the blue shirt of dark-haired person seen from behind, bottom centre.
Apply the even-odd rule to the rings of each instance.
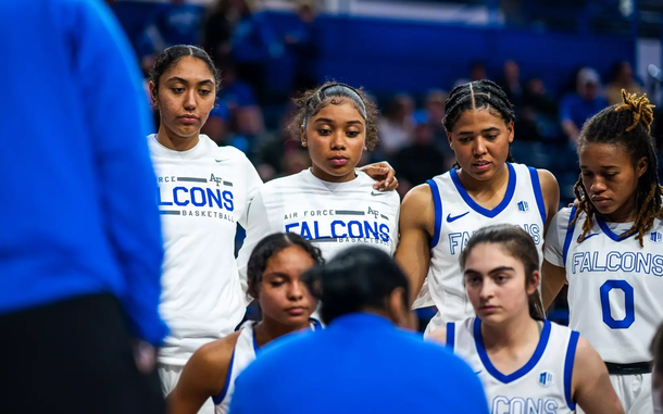
[[[488,414],[467,364],[390,321],[340,316],[275,341],[235,381],[232,414]]]

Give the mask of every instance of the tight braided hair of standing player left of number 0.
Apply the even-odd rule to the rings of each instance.
[[[501,117],[506,125],[515,121],[513,104],[509,101],[506,93],[496,83],[488,79],[456,86],[449,93],[445,108],[442,125],[445,125],[447,134],[453,129],[453,126],[465,111],[486,109],[492,115]],[[513,162],[511,150],[509,150],[506,161]],[[455,163],[454,167],[459,168],[460,165]]]

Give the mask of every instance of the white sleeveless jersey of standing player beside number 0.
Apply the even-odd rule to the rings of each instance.
[[[514,224],[527,231],[542,262],[546,205],[536,168],[506,163],[509,184],[502,201],[492,210],[477,204],[463,188],[455,170],[427,183],[435,206],[435,235],[430,241],[427,285],[438,309],[426,333],[446,322],[474,316],[459,263],[460,253],[479,228],[493,224]],[[420,302],[421,303],[421,302]]]

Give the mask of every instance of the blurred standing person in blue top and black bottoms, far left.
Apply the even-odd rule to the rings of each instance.
[[[101,0],[23,0],[0,2],[0,47],[11,79],[0,102],[11,117],[0,124],[0,411],[163,413],[152,126],[128,40]]]

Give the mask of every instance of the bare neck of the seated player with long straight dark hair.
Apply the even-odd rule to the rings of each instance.
[[[481,321],[481,337],[486,349],[514,348],[539,337],[537,322],[529,312],[500,324]]]

